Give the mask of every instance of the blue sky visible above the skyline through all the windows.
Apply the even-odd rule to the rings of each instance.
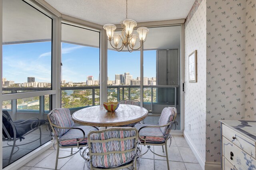
[[[99,77],[99,49],[62,43],[62,79],[85,82],[88,75]],[[140,77],[140,51],[117,52],[108,50],[108,77],[129,72]],[[3,77],[24,83],[27,77],[37,82],[50,82],[51,42],[3,45]],[[156,51],[144,51],[144,77],[156,77]]]

